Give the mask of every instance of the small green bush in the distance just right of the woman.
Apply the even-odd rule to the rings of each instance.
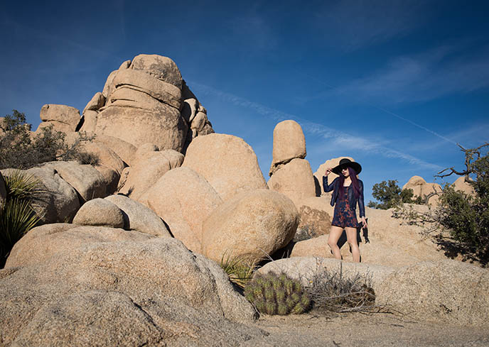
[[[374,209],[392,209],[401,203],[422,204],[421,197],[414,198],[412,189],[401,189],[397,180],[382,181],[372,187],[372,196],[379,202],[369,202],[367,206]]]

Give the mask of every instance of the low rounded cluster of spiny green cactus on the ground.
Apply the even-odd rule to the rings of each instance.
[[[244,297],[264,314],[301,314],[311,304],[301,282],[275,272],[256,273],[244,288]]]

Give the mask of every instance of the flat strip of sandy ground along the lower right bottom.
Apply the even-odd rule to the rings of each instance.
[[[489,346],[489,329],[393,314],[262,316],[253,325],[269,335],[242,346]]]

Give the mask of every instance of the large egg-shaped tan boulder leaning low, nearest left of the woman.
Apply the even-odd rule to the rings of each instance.
[[[286,246],[297,224],[296,206],[285,195],[268,189],[242,192],[204,221],[202,253],[217,262],[223,257],[261,259]]]

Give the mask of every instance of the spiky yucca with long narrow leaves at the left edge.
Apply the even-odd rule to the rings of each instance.
[[[0,268],[12,247],[39,221],[31,203],[41,194],[39,182],[32,176],[14,171],[4,177],[6,200],[0,208]]]

